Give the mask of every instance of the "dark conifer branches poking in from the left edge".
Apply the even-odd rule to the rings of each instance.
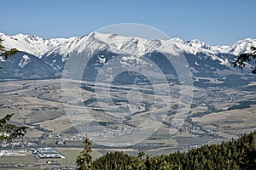
[[[2,45],[3,39],[0,38],[0,58],[8,59],[9,56],[17,54],[18,50],[16,48],[11,48],[7,50]],[[0,69],[2,67],[0,66]],[[9,123],[11,117],[14,116],[13,114],[8,114],[0,119],[0,141],[7,140],[9,142],[15,138],[21,138],[26,134],[27,127],[18,127],[14,124]]]

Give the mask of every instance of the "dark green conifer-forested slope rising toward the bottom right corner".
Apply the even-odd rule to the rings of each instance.
[[[204,145],[188,152],[137,157],[108,153],[92,162],[93,169],[256,169],[256,131],[222,144]]]

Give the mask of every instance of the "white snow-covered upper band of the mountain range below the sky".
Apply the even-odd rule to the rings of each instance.
[[[88,45],[94,50],[102,50],[103,48],[117,48],[129,54],[145,54],[155,48],[165,48],[172,45],[177,45],[184,52],[196,54],[198,52],[208,52],[212,54],[223,53],[239,55],[242,53],[249,53],[250,47],[256,46],[256,39],[247,38],[232,44],[231,46],[210,46],[200,40],[193,39],[184,42],[180,38],[171,38],[169,40],[147,40],[140,37],[124,37],[116,34],[102,34],[99,32],[92,32],[84,37],[70,37],[70,38],[52,38],[44,39],[38,36],[29,36],[24,34],[16,34],[8,36],[0,33],[3,38],[3,45],[6,48],[17,48],[19,51],[33,54],[41,58],[44,54],[67,54],[73,51],[83,51]],[[97,43],[102,43],[100,46]],[[134,45],[137,43],[137,45]]]

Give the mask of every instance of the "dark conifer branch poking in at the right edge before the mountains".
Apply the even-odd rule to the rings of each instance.
[[[246,65],[246,62],[255,59],[256,62],[256,48],[251,47],[252,53],[246,53],[246,54],[240,54],[235,63],[234,63],[234,67],[236,67],[237,65],[239,66],[239,68],[243,69]],[[253,74],[256,74],[256,65],[255,68],[252,71]]]

